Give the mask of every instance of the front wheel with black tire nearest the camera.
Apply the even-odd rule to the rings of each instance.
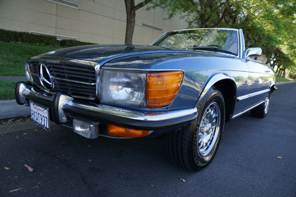
[[[165,137],[169,159],[190,171],[199,171],[209,165],[218,150],[225,121],[225,104],[222,93],[215,87],[210,88],[199,102],[197,110],[198,117],[194,121],[176,132],[168,133]],[[215,114],[211,119],[216,125],[215,128],[212,128],[213,124],[209,124],[210,121],[207,119],[210,118],[210,114]],[[207,128],[206,131],[202,130],[205,128]],[[205,143],[201,139],[208,139],[207,142],[210,145],[203,147]]]

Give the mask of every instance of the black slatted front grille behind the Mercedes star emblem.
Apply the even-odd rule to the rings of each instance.
[[[94,66],[42,62],[52,76],[52,92],[61,92],[74,98],[96,98],[96,72]],[[41,86],[38,77],[39,62],[29,62],[33,82]]]

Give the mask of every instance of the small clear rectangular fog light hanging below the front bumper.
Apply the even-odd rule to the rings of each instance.
[[[99,136],[99,129],[98,129],[97,122],[85,122],[82,120],[73,120],[73,130],[75,133],[82,135],[83,137],[94,139]]]

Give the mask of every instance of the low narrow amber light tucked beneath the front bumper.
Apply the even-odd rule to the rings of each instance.
[[[108,134],[119,137],[144,137],[149,134],[150,131],[134,130],[125,127],[119,127],[116,125],[108,125]]]

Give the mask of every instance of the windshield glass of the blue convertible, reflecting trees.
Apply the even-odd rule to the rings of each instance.
[[[230,52],[238,55],[238,32],[236,30],[203,29],[170,32],[153,43],[154,46]],[[190,48],[191,47],[191,48]]]

